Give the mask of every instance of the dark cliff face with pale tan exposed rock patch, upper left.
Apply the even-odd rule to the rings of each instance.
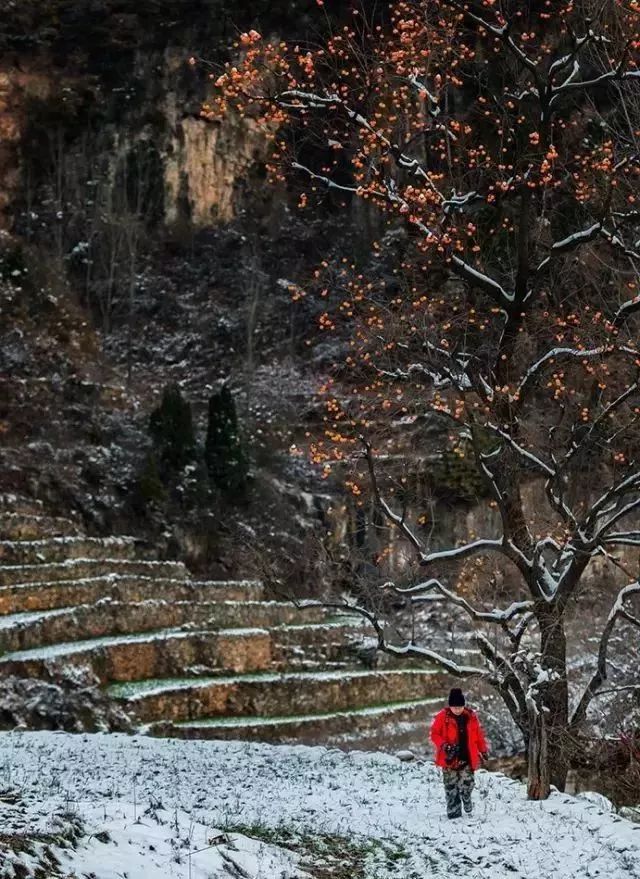
[[[261,155],[263,142],[251,123],[212,126],[198,118],[208,75],[226,60],[240,30],[300,33],[314,13],[310,6],[302,0],[6,0],[0,228],[15,228],[16,212],[28,210],[35,195],[25,190],[42,183],[27,177],[32,162],[43,164],[40,150],[51,152],[42,142],[45,119],[49,133],[60,133],[65,154],[88,153],[94,169],[110,173],[114,183],[123,156],[136,143],[151,143],[160,159],[166,222],[197,227],[229,220],[236,180]],[[333,6],[340,4],[328,0],[327,8]],[[192,56],[203,63],[189,65]]]

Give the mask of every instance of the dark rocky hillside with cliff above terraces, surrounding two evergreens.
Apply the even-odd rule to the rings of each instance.
[[[198,116],[206,70],[227,57],[236,28],[284,32],[296,4],[9,6],[3,484],[51,512],[78,511],[95,533],[168,540],[203,570],[309,579],[300,547],[326,531],[331,501],[296,442],[318,417],[314,395],[334,352],[316,344],[313,315],[294,308],[287,279],[331,249],[336,223],[309,228],[289,194],[265,193],[264,138],[250,122]],[[212,497],[198,472],[222,381],[251,465],[242,511]],[[161,473],[162,486],[148,425],[168,385],[193,407],[200,451],[186,472]],[[273,571],[258,542],[271,547]]]

